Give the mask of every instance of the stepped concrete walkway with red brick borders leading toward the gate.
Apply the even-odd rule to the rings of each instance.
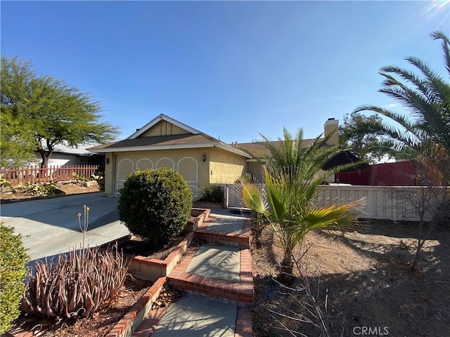
[[[212,212],[195,235],[215,234],[217,238],[219,233],[221,244],[205,241],[186,252],[167,277],[169,284],[186,295],[167,310],[150,311],[133,337],[252,336],[251,220],[224,209]],[[246,244],[240,243],[243,240],[226,244],[227,238],[239,236],[247,238]]]

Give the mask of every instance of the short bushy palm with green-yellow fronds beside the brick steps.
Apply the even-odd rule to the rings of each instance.
[[[340,227],[354,220],[353,205],[314,204],[319,185],[335,172],[321,171],[321,167],[335,156],[336,147],[323,146],[325,142],[319,138],[302,147],[302,129],[293,138],[283,128],[283,138],[278,138],[278,142],[263,138],[267,152],[251,155],[263,164],[265,191],[248,179],[238,184],[243,204],[262,214],[274,227],[284,251],[281,277],[289,281],[293,280],[289,275],[293,272],[295,247],[311,230]]]

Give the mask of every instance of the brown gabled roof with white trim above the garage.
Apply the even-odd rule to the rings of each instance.
[[[153,126],[160,121],[167,121],[174,126],[177,126],[187,133],[180,133],[174,135],[165,136],[141,136],[146,131],[150,130]],[[175,119],[167,117],[165,114],[160,114],[155,119],[152,119],[148,124],[140,128],[131,136],[124,140],[120,140],[114,143],[105,145],[98,145],[90,147],[88,150],[94,153],[105,152],[125,152],[125,151],[148,151],[148,150],[174,150],[174,149],[194,149],[202,147],[218,147],[222,150],[239,154],[240,156],[250,158],[250,155],[239,150],[236,147],[232,147],[220,140],[202,133],[191,126],[187,126]]]

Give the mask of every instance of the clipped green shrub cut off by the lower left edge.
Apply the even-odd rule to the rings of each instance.
[[[22,236],[13,230],[0,223],[0,333],[11,329],[13,320],[19,316],[28,270]]]

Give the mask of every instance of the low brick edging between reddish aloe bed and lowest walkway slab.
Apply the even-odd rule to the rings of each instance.
[[[153,302],[160,296],[165,282],[166,278],[160,277],[153,286],[150,286],[150,289],[143,294],[129,312],[124,315],[124,318],[120,319],[105,337],[131,337],[144,317],[150,312]]]

